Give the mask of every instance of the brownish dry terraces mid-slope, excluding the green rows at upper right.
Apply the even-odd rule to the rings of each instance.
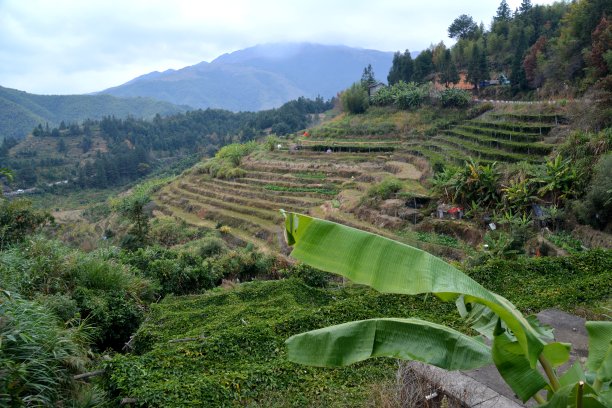
[[[157,195],[158,209],[178,215],[191,224],[232,228],[238,238],[268,247],[282,246],[279,209],[313,213],[332,209],[341,190],[390,175],[383,158],[373,153],[326,153],[316,151],[266,152],[261,157],[246,158],[241,168],[245,177],[233,180],[212,178],[192,172],[166,186]],[[363,160],[365,159],[365,160]],[[415,176],[414,174],[409,176]],[[416,174],[418,177],[419,174]],[[366,227],[357,219],[350,222]]]

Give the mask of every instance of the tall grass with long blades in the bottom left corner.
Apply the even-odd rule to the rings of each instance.
[[[75,373],[89,362],[83,325],[63,327],[53,312],[0,291],[0,404],[58,406],[74,398]]]

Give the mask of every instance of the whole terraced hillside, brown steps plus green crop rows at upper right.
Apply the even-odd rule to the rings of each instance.
[[[273,250],[284,245],[279,209],[422,246],[385,228],[398,224],[393,222],[397,213],[355,215],[372,183],[393,176],[409,194],[427,196],[423,183],[436,163],[461,164],[469,157],[481,162],[542,162],[565,123],[556,113],[495,109],[475,119],[428,128],[405,119],[409,114],[382,120],[379,115],[370,122],[367,117],[340,117],[324,123],[283,143],[281,149],[260,149],[243,158],[240,168],[246,174],[240,178],[213,178],[195,167],[157,194],[158,209],[192,225],[229,226],[236,238]]]

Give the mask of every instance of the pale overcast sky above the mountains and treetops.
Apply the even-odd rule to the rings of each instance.
[[[512,9],[520,2],[508,0]],[[417,51],[451,44],[446,30],[460,14],[488,27],[498,6],[498,0],[0,0],[0,86],[94,92],[270,42]]]

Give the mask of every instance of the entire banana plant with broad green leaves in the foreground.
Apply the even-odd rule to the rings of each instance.
[[[287,340],[288,357],[301,364],[336,367],[370,357],[417,360],[447,370],[495,364],[523,400],[545,407],[612,406],[612,322],[587,322],[589,356],[560,375],[570,344],[525,317],[507,299],[427,252],[306,215],[283,212],[291,256],[385,293],[433,293],[454,301],[482,337],[419,319],[370,319],[326,327]],[[542,374],[543,373],[543,374]]]

